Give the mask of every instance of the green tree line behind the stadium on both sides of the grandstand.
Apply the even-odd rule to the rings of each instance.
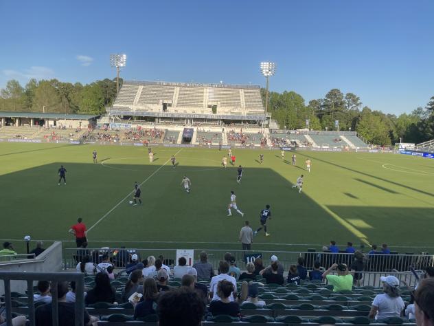
[[[265,90],[261,92],[265,98]],[[31,79],[24,87],[17,80],[9,80],[0,91],[0,111],[98,115],[113,104],[115,96],[116,80],[109,78],[87,85]],[[307,105],[295,91],[271,91],[269,112],[281,129],[336,130],[335,121],[339,120],[341,131],[357,131],[372,144],[390,145],[400,138],[419,143],[434,138],[434,96],[426,107],[396,116],[363,107],[358,96],[343,94],[339,89],[331,89],[324,98],[310,100]]]

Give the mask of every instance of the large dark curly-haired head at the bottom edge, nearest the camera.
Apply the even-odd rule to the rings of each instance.
[[[196,292],[183,288],[162,294],[157,313],[159,326],[199,326],[205,305]]]

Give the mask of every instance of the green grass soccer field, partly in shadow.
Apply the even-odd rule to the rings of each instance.
[[[103,164],[93,164],[93,149]],[[244,219],[257,228],[260,210],[270,204],[271,237],[263,232],[255,237],[257,249],[300,250],[330,239],[341,247],[347,241],[385,242],[400,252],[433,245],[434,160],[299,151],[297,166],[291,166],[279,151],[233,153],[236,165],[244,167],[241,184],[235,167],[220,165],[227,151],[217,149],[155,147],[150,164],[147,149],[135,146],[2,143],[0,238],[13,239],[19,251],[27,234],[69,240],[66,246],[73,247],[67,230],[82,217],[91,247],[240,249]],[[176,169],[168,162],[172,154]],[[304,170],[307,156],[310,173]],[[67,186],[57,183],[60,164],[67,169]],[[305,175],[301,194],[291,188],[300,174]],[[183,175],[192,180],[190,194],[181,187]],[[143,206],[128,204],[135,181],[143,182]],[[235,212],[227,217],[231,190],[244,218]]]

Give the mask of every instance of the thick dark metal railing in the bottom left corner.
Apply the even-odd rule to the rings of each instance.
[[[84,326],[84,274],[68,272],[0,272],[0,280],[5,287],[5,307],[6,307],[6,325],[12,326],[12,295],[10,289],[11,281],[27,282],[27,303],[29,307],[30,325],[35,323],[35,307],[33,301],[33,283],[34,281],[50,281],[52,288],[52,325],[58,326],[58,298],[57,283],[61,281],[76,282],[76,326]],[[78,316],[81,316],[78,318]],[[61,326],[61,325],[60,325]]]

